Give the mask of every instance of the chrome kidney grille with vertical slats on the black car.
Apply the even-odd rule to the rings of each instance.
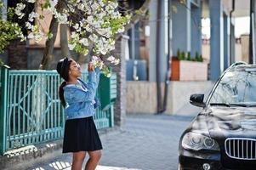
[[[225,153],[235,159],[256,160],[256,139],[226,139]]]

